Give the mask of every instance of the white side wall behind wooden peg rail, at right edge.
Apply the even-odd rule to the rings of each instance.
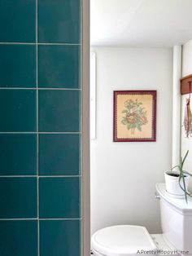
[[[192,40],[185,43],[182,51],[182,77],[190,74],[192,74]],[[185,130],[182,126],[185,116],[185,99],[187,97],[188,95],[181,96],[181,156],[184,157],[186,151],[189,149],[189,156],[185,161],[185,170],[192,171],[192,138],[186,138]],[[192,97],[190,106],[192,106]],[[192,192],[192,179],[190,179],[190,191]]]

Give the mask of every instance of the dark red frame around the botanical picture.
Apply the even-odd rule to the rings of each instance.
[[[152,131],[150,138],[117,137],[117,95],[152,95]],[[113,92],[113,141],[114,142],[154,142],[156,141],[156,90],[114,90]]]

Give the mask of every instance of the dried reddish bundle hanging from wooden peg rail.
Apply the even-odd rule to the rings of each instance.
[[[191,82],[189,82],[190,85]],[[186,99],[186,106],[185,106],[185,117],[183,121],[183,125],[185,128],[185,135],[187,138],[192,137],[192,114],[190,111],[190,96]]]

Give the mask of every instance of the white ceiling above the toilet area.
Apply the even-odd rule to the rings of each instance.
[[[192,39],[192,0],[90,0],[91,46],[173,46]]]

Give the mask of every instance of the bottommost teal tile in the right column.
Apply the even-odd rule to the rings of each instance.
[[[40,254],[41,256],[80,256],[80,222],[78,220],[40,221]]]

